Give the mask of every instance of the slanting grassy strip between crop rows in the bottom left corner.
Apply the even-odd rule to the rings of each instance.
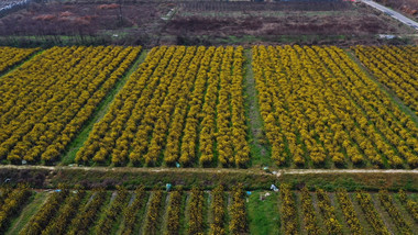
[[[19,217],[12,221],[9,231],[6,233],[8,235],[18,235],[20,231],[29,223],[31,217],[41,209],[41,206],[46,201],[47,192],[35,192],[30,199],[30,204],[26,205]]]

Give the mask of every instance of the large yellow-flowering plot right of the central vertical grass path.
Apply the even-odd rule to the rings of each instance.
[[[272,158],[279,166],[416,168],[418,128],[337,47],[253,47]]]

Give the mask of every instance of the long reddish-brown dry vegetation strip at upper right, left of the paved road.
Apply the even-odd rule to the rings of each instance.
[[[173,34],[195,35],[369,35],[396,33],[375,15],[324,15],[324,16],[245,16],[245,18],[177,18],[168,23]]]

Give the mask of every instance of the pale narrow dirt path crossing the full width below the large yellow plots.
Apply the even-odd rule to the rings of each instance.
[[[183,172],[245,172],[252,175],[266,175],[267,172],[256,169],[226,169],[226,168],[136,168],[136,167],[69,167],[69,166],[14,166],[3,165],[1,169],[74,169],[74,170],[96,170],[96,171],[116,171],[116,172],[164,172],[164,171],[183,171]],[[418,169],[278,169],[275,175],[310,175],[310,174],[418,174]]]

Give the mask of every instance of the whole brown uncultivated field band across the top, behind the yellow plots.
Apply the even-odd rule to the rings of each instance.
[[[174,14],[170,15],[170,11]],[[103,43],[146,47],[289,42],[346,46],[380,44],[377,34],[414,34],[414,31],[383,13],[348,2],[150,1],[122,7],[88,2],[33,3],[0,19],[0,37],[6,38],[37,36],[42,41],[45,36],[76,36],[82,41],[100,37]]]

